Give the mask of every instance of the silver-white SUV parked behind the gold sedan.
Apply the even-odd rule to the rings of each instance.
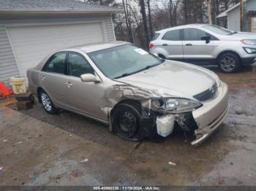
[[[161,58],[197,65],[217,64],[230,73],[256,61],[256,34],[209,24],[177,26],[155,32],[149,50]]]

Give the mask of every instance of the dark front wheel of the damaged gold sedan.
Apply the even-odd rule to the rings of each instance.
[[[136,104],[119,104],[112,114],[113,131],[128,141],[141,141],[140,106]]]

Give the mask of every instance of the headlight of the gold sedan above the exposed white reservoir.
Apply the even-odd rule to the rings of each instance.
[[[203,106],[199,101],[191,100],[188,98],[162,98],[153,99],[152,106],[157,109],[168,111],[171,113],[191,112],[200,106]]]

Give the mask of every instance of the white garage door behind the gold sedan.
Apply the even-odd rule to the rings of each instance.
[[[104,41],[100,23],[7,27],[20,75],[55,50]]]

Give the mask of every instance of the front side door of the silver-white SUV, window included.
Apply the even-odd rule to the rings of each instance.
[[[197,64],[209,64],[214,60],[215,37],[197,28],[185,28],[183,31],[184,60]],[[211,36],[206,44],[203,36]]]

